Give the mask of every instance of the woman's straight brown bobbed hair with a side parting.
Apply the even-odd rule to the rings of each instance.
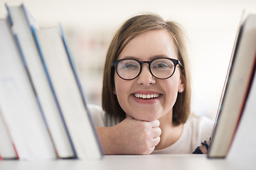
[[[183,30],[177,23],[164,21],[160,16],[150,13],[129,18],[121,28],[117,30],[107,51],[103,74],[102,108],[107,114],[114,116],[114,118],[119,118],[120,121],[126,117],[126,114],[121,106],[119,106],[117,96],[114,95],[114,68],[112,67],[112,62],[117,60],[120,52],[122,52],[125,45],[127,45],[132,38],[149,30],[160,29],[168,30],[174,40],[178,52],[178,60],[183,65],[181,74],[184,77],[186,86],[183,93],[178,93],[173,108],[172,121],[174,123],[185,123],[188,119],[188,115],[191,113],[191,79]]]

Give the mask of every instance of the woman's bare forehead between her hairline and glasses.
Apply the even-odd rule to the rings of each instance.
[[[127,43],[118,59],[133,57],[138,60],[151,60],[156,56],[178,59],[176,45],[166,29],[149,30],[137,35]]]

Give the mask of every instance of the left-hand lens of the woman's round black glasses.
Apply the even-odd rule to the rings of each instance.
[[[123,79],[134,79],[139,74],[139,62],[132,59],[122,60],[117,64],[117,74]]]

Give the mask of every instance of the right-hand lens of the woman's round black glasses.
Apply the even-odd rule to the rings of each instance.
[[[151,72],[159,79],[166,79],[174,74],[175,65],[169,59],[156,59],[151,62]]]

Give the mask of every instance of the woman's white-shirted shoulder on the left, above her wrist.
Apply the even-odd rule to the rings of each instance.
[[[110,127],[118,123],[117,119],[111,117],[105,111],[103,111],[102,106],[97,106],[94,104],[88,104],[87,106],[95,126]]]

